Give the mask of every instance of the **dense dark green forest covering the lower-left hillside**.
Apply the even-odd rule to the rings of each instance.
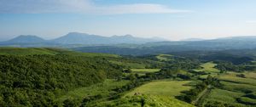
[[[1,106],[49,106],[56,96],[76,87],[103,82],[121,75],[107,60],[67,56],[0,56]]]

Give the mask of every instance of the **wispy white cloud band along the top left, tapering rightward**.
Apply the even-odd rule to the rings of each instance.
[[[82,13],[82,14],[175,14],[189,10],[172,9],[154,3],[98,6],[91,0],[1,0],[0,13]]]

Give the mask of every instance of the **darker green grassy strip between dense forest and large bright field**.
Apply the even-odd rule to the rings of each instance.
[[[79,87],[73,91],[69,91],[66,95],[59,97],[57,100],[63,102],[68,98],[84,98],[86,96],[94,96],[98,94],[106,97],[110,93],[114,93],[111,90],[125,86],[127,83],[129,83],[129,81],[116,82],[114,80],[106,80],[103,83],[95,84],[90,87]]]

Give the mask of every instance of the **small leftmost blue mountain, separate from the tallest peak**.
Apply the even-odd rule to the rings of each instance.
[[[46,42],[43,38],[31,35],[21,35],[19,37],[15,37],[9,41],[1,42],[1,44],[33,44],[33,43],[41,43]]]

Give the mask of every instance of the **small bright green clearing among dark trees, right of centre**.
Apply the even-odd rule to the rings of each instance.
[[[219,70],[214,68],[215,65],[217,65],[217,64],[214,64],[213,62],[207,62],[207,63],[201,65],[202,69],[198,69],[196,71],[206,71],[206,72],[210,72],[210,73],[218,73]]]

